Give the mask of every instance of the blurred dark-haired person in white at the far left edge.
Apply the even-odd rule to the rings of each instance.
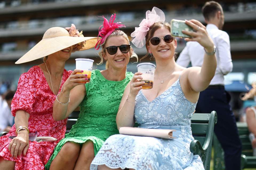
[[[0,132],[9,132],[11,126],[14,124],[14,116],[11,114],[11,101],[13,100],[15,92],[9,91],[2,101],[2,108],[0,110]]]

